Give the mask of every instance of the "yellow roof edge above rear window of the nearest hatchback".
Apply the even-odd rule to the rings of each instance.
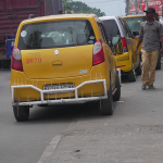
[[[53,20],[71,20],[71,18],[96,18],[96,21],[100,21],[96,14],[60,14],[60,15],[48,15],[48,16],[40,16],[40,17],[34,17],[23,21],[25,22],[37,22],[37,21],[53,21]]]

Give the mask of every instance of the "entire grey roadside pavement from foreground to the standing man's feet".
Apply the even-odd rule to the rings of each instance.
[[[162,163],[162,70],[156,71],[154,86],[155,90],[141,90],[140,76],[136,83],[123,83],[113,116],[84,114],[40,163]]]

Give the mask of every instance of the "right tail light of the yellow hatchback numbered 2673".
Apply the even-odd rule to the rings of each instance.
[[[102,41],[98,40],[93,46],[92,65],[97,65],[104,62],[104,53]]]

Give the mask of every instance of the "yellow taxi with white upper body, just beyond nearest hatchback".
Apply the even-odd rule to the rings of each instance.
[[[130,32],[127,23],[118,16],[100,17],[116,60],[116,66],[130,82],[136,82],[136,74],[141,75],[140,57],[135,54],[138,42],[137,33]],[[140,48],[139,48],[140,52]]]

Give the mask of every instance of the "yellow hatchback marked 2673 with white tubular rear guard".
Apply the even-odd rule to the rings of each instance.
[[[12,53],[11,91],[17,122],[33,105],[100,101],[104,115],[121,97],[114,55],[93,14],[51,15],[21,23]]]

